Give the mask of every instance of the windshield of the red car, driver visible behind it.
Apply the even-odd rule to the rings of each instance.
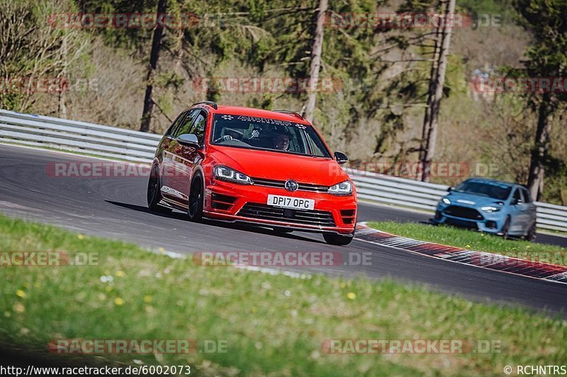
[[[248,115],[217,114],[211,143],[330,158],[323,141],[310,125]]]

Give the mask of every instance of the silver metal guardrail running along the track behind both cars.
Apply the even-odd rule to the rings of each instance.
[[[105,158],[147,163],[161,135],[43,115],[0,110],[0,141],[48,146]],[[345,169],[358,197],[398,207],[434,211],[449,186]],[[567,231],[567,207],[536,202],[538,228]]]

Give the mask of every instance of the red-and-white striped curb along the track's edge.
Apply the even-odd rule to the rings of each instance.
[[[546,262],[534,262],[517,257],[486,253],[483,251],[455,248],[412,238],[395,236],[366,226],[366,222],[357,224],[355,233],[357,240],[363,240],[377,245],[384,245],[410,253],[434,257],[450,262],[492,269],[508,274],[545,280],[547,282],[567,284],[567,266],[554,265]]]

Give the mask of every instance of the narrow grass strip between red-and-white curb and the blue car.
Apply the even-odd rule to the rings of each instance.
[[[530,243],[526,240],[505,240],[488,233],[454,228],[452,226],[433,226],[429,224],[398,223],[395,221],[369,221],[371,228],[376,228],[396,236],[413,238],[442,245],[455,246],[476,251],[486,251],[524,257],[533,261],[567,265],[567,249],[558,245]]]

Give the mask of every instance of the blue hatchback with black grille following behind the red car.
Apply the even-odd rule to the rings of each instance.
[[[536,206],[522,185],[468,178],[447,191],[437,204],[434,224],[464,226],[504,238],[535,239]]]

